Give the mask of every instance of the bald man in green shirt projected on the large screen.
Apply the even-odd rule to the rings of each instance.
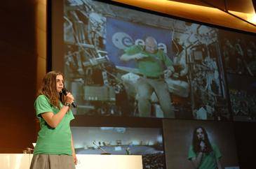
[[[164,80],[173,74],[173,62],[163,50],[158,49],[156,39],[148,36],[144,45],[127,47],[120,59],[121,61],[135,60],[137,62],[140,78],[137,80],[135,87],[139,116],[150,117],[150,98],[155,91],[164,117],[174,118],[173,105],[170,100],[168,86]]]

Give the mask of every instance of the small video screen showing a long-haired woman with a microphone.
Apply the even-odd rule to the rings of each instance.
[[[163,138],[166,168],[239,168],[231,122],[165,119]]]

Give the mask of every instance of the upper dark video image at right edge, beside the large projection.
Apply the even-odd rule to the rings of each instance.
[[[256,75],[255,36],[221,30],[220,43],[227,73]]]

